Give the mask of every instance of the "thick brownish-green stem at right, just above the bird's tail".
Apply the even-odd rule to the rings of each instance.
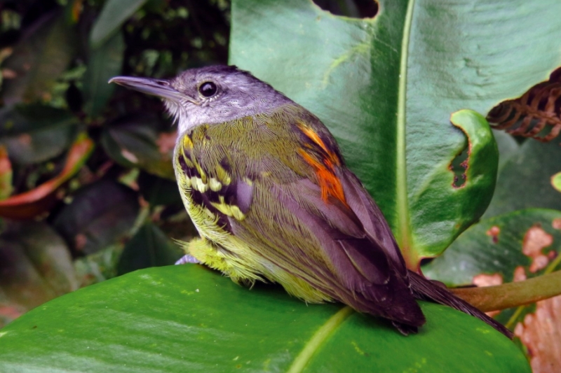
[[[561,295],[561,271],[499,286],[450,290],[481,311],[508,309]]]

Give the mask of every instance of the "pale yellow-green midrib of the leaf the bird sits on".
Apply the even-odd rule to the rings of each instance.
[[[318,331],[310,338],[308,343],[304,346],[304,349],[299,353],[290,365],[290,368],[286,371],[287,373],[299,373],[304,370],[304,367],[308,364],[311,357],[313,356],[320,346],[325,342],[332,332],[339,328],[347,317],[354,313],[354,310],[349,306],[345,306],[337,314],[334,314],[318,329]]]

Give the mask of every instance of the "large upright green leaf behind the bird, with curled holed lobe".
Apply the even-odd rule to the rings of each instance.
[[[454,127],[450,116],[462,108],[485,115],[548,77],[561,60],[561,3],[379,6],[373,19],[357,20],[311,0],[234,1],[230,62],[325,122],[416,265],[473,223],[494,188],[494,141]],[[478,120],[478,133],[487,132]],[[471,178],[458,188],[449,166],[466,147],[462,130],[488,157],[471,154]]]

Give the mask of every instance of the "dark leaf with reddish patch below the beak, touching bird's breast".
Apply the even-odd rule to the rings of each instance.
[[[140,167],[144,171],[175,181],[173,148],[162,151],[158,147],[156,118],[123,118],[107,126],[101,143],[107,155],[124,167]]]

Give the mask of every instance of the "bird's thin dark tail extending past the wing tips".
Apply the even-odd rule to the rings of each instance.
[[[473,307],[465,300],[461,300],[456,295],[450,293],[450,290],[447,290],[447,288],[439,286],[433,281],[426,279],[415,272],[410,271],[409,278],[413,295],[417,299],[444,304],[445,306],[452,307],[458,311],[465,312],[468,315],[480,318],[496,330],[499,330],[499,332],[503,333],[503,335],[506,335],[506,337],[510,339],[513,338],[513,333],[504,325],[487,316],[485,313]]]

